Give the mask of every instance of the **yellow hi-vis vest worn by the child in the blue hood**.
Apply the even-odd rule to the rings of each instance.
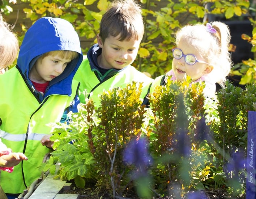
[[[72,96],[50,95],[42,103],[17,69],[0,76],[0,87],[0,139],[13,152],[22,152],[28,157],[14,166],[12,173],[1,172],[0,185],[5,193],[18,194],[41,176],[38,167],[52,150],[43,146],[40,140],[50,134],[49,123],[60,121],[76,94],[77,84],[73,83]]]

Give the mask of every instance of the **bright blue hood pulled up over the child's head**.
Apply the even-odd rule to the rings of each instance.
[[[76,51],[79,56],[67,65],[60,76],[49,82],[44,98],[51,94],[71,95],[72,80],[83,55],[79,37],[71,23],[61,18],[40,18],[27,30],[16,66],[31,87],[32,83],[28,78],[31,67],[42,54],[54,50]]]

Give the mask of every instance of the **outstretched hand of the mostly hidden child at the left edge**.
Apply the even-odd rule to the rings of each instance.
[[[27,160],[26,155],[23,153],[10,153],[0,157],[0,167],[13,167],[20,163],[22,160]]]

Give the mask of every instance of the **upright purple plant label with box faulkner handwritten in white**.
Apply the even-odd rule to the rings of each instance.
[[[248,112],[246,199],[256,199],[256,112]]]

